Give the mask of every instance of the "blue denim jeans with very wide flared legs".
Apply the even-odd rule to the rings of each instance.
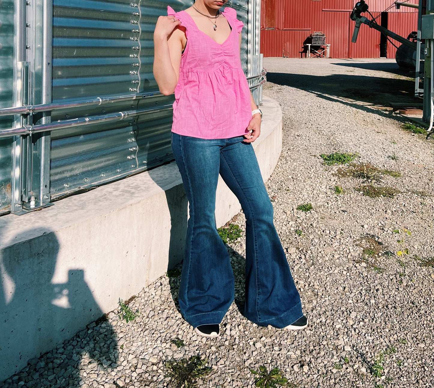
[[[210,140],[172,133],[172,149],[190,206],[179,289],[184,319],[193,327],[221,323],[234,299],[232,267],[214,215],[220,173],[246,217],[244,316],[277,328],[298,320],[300,296],[252,145],[243,137]]]

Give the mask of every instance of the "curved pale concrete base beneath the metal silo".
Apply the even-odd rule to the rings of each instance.
[[[253,147],[266,180],[282,150],[282,112],[263,100]],[[0,381],[180,262],[187,205],[170,163],[39,212],[0,217]],[[240,208],[220,178],[217,225]]]

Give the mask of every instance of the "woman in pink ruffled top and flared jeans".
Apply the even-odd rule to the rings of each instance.
[[[160,16],[154,75],[161,93],[175,93],[172,149],[190,204],[179,307],[198,335],[217,337],[234,299],[229,255],[214,217],[219,173],[246,216],[244,316],[260,325],[303,329],[299,293],[273,224],[252,142],[262,113],[241,68],[243,23],[227,0],[196,0]]]

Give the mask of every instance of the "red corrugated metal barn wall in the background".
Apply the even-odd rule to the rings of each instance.
[[[378,31],[362,26],[357,43],[351,42],[355,23],[349,16],[355,2],[356,0],[262,0],[261,52],[264,57],[300,57],[303,42],[309,34],[322,31],[325,33],[326,42],[331,45],[332,58],[378,58]],[[369,11],[376,17],[393,1],[368,0],[367,3]],[[393,7],[389,10],[389,20],[395,20],[396,16],[391,15],[401,15],[401,24],[389,25],[389,29],[407,37],[407,28],[404,26],[414,23],[411,29],[414,31],[417,27],[417,14],[416,9],[401,7],[400,10],[396,10]],[[395,52],[391,50],[389,58],[394,57]]]

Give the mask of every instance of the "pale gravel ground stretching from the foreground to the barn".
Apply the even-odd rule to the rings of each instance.
[[[228,247],[237,294],[219,339],[198,339],[182,320],[174,271],[128,304],[138,310],[135,320],[112,312],[0,387],[164,387],[164,362],[196,354],[212,367],[200,387],[253,387],[250,369],[259,365],[279,367],[288,387],[434,386],[433,143],[374,108],[410,103],[411,81],[391,61],[264,62],[264,93],[281,104],[284,130],[266,187],[309,327],[288,332],[243,318],[242,237]],[[363,87],[353,91],[356,85]],[[319,157],[333,152],[357,152],[354,163],[401,177],[342,177],[350,166],[325,166]],[[370,198],[356,190],[368,184],[401,193]],[[335,186],[345,192],[337,195]],[[310,212],[296,210],[305,203]],[[232,223],[244,229],[243,214]],[[402,260],[398,228],[412,232]],[[177,337],[184,346],[171,342]]]

